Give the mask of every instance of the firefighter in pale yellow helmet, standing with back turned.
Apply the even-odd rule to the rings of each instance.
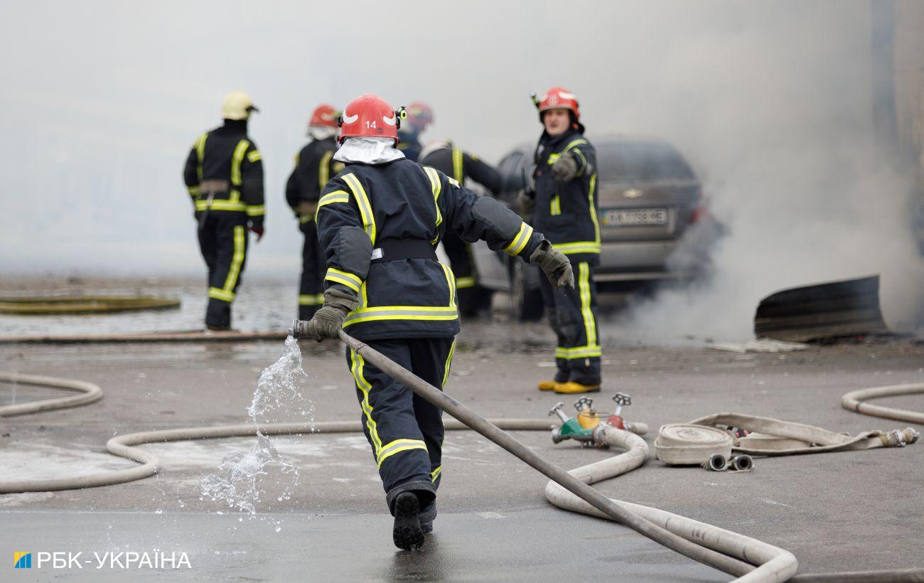
[[[251,112],[259,112],[244,91],[222,102],[225,124],[192,145],[183,179],[199,224],[199,246],[209,268],[205,326],[231,329],[231,302],[247,260],[248,228],[263,237],[263,164],[247,135]]]

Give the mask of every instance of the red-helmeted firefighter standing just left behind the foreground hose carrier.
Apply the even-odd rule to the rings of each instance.
[[[305,236],[301,249],[301,282],[298,285],[298,320],[310,320],[324,303],[324,269],[327,261],[318,245],[314,213],[321,189],[344,164],[334,160],[337,143],[337,112],[324,103],[311,114],[308,135],[311,141],[295,157],[295,170],[286,182],[286,202],[298,218]]]

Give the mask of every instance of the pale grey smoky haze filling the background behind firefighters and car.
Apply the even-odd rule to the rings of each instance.
[[[906,176],[871,139],[866,1],[33,2],[7,6],[0,49],[0,274],[204,273],[181,169],[228,91],[261,107],[247,271],[297,278],[283,190],[316,104],[423,100],[425,139],[496,161],[539,135],[528,92],[561,84],[591,138],[673,142],[732,228],[718,287],[659,314],[867,273],[920,305]]]

